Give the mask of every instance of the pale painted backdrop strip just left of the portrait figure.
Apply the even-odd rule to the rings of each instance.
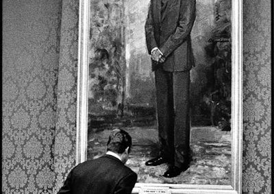
[[[149,0],[125,1],[126,100],[130,105],[155,107],[154,74],[145,42]]]

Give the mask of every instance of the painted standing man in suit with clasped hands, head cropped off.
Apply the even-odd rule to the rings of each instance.
[[[178,176],[190,163],[190,69],[194,66],[190,32],[195,0],[151,0],[145,34],[155,71],[160,154],[147,161],[169,163],[164,177]]]

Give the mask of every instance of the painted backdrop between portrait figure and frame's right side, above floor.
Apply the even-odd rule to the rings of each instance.
[[[197,1],[192,28],[195,68],[190,71],[193,126],[230,130],[231,1]]]

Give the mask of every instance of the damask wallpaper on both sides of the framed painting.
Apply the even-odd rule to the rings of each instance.
[[[2,193],[55,193],[75,165],[78,1],[61,1],[3,0]],[[243,193],[271,193],[270,5],[244,0]]]

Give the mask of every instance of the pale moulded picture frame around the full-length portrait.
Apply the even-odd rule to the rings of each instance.
[[[79,47],[77,72],[76,164],[87,160],[88,45],[90,0],[79,0]],[[169,193],[241,193],[242,191],[242,0],[232,0],[232,167],[231,185],[136,183],[143,188],[167,189]],[[163,191],[164,191],[163,189]]]

